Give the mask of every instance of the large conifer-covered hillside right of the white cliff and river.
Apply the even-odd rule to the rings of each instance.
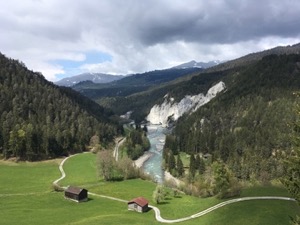
[[[176,144],[188,154],[210,153],[240,179],[268,181],[283,173],[282,158],[291,147],[300,90],[300,55],[270,55],[228,71],[227,91],[174,130]]]

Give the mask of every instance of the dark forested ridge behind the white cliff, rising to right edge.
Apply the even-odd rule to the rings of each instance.
[[[163,101],[163,97],[166,94],[170,94],[172,97],[176,98],[176,100],[179,100],[184,98],[185,95],[196,95],[206,92],[212,84],[217,83],[220,79],[226,83],[226,86],[229,85],[228,88],[230,89],[230,80],[232,78],[227,76],[228,74],[233,74],[235,71],[241,71],[268,55],[289,55],[299,53],[300,44],[276,47],[262,52],[251,53],[203,71],[195,71],[186,74],[185,76],[180,76],[175,80],[157,84],[155,87],[152,86],[139,93],[127,93],[126,96],[110,95],[110,97],[99,97],[95,98],[95,100],[100,105],[112,109],[117,114],[124,114],[127,111],[132,110],[132,118],[136,121],[141,121],[147,116],[154,104]],[[113,87],[111,88],[113,89]],[[136,86],[136,88],[138,89],[141,87]]]

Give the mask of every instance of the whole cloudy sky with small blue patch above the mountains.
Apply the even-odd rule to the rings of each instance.
[[[0,0],[0,52],[51,81],[300,42],[299,0]]]

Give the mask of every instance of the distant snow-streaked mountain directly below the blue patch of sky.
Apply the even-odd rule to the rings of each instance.
[[[122,78],[124,78],[124,76],[122,75],[111,75],[104,73],[83,73],[77,76],[63,78],[55,82],[55,84],[59,86],[71,87],[78,84],[81,81],[92,81],[94,83],[109,83],[115,80],[120,80]]]

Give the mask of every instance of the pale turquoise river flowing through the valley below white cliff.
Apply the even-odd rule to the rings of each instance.
[[[149,125],[147,128],[147,137],[150,141],[149,152],[151,152],[152,156],[143,164],[143,170],[150,174],[156,182],[162,183],[164,180],[162,152],[168,129],[160,125]]]

